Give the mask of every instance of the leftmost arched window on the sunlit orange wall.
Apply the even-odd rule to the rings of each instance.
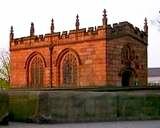
[[[32,87],[41,87],[43,85],[43,61],[40,57],[35,56],[31,61],[30,78]]]

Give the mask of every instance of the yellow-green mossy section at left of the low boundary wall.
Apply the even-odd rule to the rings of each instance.
[[[14,121],[32,121],[38,114],[37,92],[9,93],[10,119]]]

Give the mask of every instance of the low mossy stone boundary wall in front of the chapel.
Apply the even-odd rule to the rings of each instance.
[[[12,121],[61,123],[160,119],[156,91],[10,91]]]

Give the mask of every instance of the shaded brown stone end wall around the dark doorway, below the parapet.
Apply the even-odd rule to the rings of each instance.
[[[122,85],[121,72],[126,65],[122,63],[122,49],[129,46],[134,51],[131,68],[134,70],[134,81],[137,85],[147,85],[147,44],[131,37],[123,36],[114,38],[107,43],[107,83],[108,85]],[[135,86],[135,82],[130,86]]]

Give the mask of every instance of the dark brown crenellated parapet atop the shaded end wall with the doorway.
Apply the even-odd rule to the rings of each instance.
[[[107,39],[119,38],[125,35],[132,36],[147,45],[148,31],[142,31],[127,21],[107,26]]]

